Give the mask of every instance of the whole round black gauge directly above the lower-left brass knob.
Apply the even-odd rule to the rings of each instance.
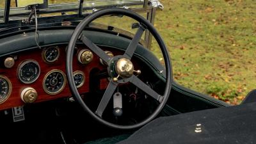
[[[40,75],[40,66],[35,60],[26,60],[20,64],[17,75],[22,83],[33,83]]]

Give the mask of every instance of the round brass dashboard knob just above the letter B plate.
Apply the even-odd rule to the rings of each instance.
[[[24,88],[20,94],[20,98],[25,103],[33,103],[37,99],[37,92],[34,88]]]

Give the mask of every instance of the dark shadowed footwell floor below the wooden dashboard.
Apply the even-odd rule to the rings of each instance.
[[[124,134],[99,124],[78,104],[67,102],[42,102],[24,107],[25,120],[12,121],[12,110],[1,112],[3,143],[75,144]]]

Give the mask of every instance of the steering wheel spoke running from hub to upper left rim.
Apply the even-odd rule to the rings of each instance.
[[[91,51],[93,51],[97,56],[99,56],[103,61],[105,61],[107,64],[111,60],[111,57],[106,54],[102,49],[100,49],[97,45],[95,45],[91,40],[89,40],[86,36],[81,34],[79,37],[79,40],[81,40]]]

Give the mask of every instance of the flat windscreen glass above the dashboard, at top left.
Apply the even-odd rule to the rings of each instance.
[[[28,1],[24,3],[25,0],[11,0],[11,10],[10,10],[10,19],[22,19],[22,15],[28,15],[30,12],[29,10],[26,10],[26,5],[28,4]],[[31,0],[32,2],[35,0]],[[36,1],[46,1],[46,0],[36,0]],[[31,3],[32,3],[31,2]],[[39,3],[38,2],[38,3]],[[0,1],[0,19],[3,19],[4,15],[4,0]],[[52,15],[61,15],[62,10],[66,12],[66,14],[74,14],[77,13],[77,10],[79,8],[79,1],[77,0],[48,0],[48,8],[45,8],[44,12],[51,12],[51,15],[41,15],[41,17],[49,17]],[[130,8],[138,8],[143,7],[144,0],[102,0],[102,1],[96,1],[96,0],[89,0],[84,1],[83,3],[83,13],[92,12],[93,9],[101,9],[101,8],[109,8],[113,6],[117,7],[123,7],[123,6],[129,6]],[[54,13],[53,11],[58,11]],[[19,17],[17,17],[19,15]]]

